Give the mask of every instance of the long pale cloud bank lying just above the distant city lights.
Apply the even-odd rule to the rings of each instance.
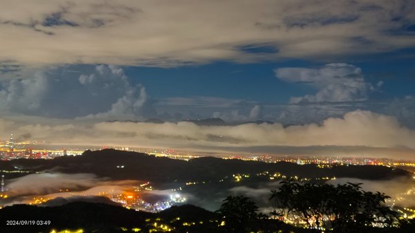
[[[8,138],[10,133],[16,137],[30,133],[34,139],[55,145],[120,145],[283,154],[284,151],[297,154],[326,154],[329,151],[336,155],[349,149],[354,155],[415,156],[415,131],[402,127],[394,117],[370,111],[353,111],[342,118],[328,118],[321,124],[290,127],[278,123],[208,127],[192,122],[48,125],[2,120],[0,129],[4,129],[0,132],[2,138]],[[333,147],[339,149],[333,152]]]

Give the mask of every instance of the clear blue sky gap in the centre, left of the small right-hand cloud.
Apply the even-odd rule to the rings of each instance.
[[[214,62],[178,68],[127,68],[126,73],[144,84],[154,97],[216,96],[259,102],[284,103],[293,93],[311,93],[310,88],[275,78],[279,66],[311,65],[310,62],[284,61],[235,64]],[[163,82],[163,86],[160,86]]]

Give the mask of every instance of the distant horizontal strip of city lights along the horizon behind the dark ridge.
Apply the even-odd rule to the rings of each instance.
[[[82,147],[62,149],[33,149],[42,147],[39,142],[33,141],[16,141],[13,136],[8,140],[0,140],[0,158],[1,160],[12,160],[18,158],[28,159],[53,159],[59,156],[77,156],[81,155],[86,149],[95,149],[95,147]],[[190,160],[192,158],[200,158],[195,152],[186,152],[174,149],[135,149],[133,147],[108,147],[124,151],[136,151],[147,153],[158,157],[167,157],[178,160]],[[212,156],[212,155],[211,155]],[[297,165],[316,164],[322,168],[333,165],[379,165],[387,167],[415,167],[415,160],[391,159],[391,158],[367,158],[362,156],[285,156],[285,155],[213,155],[223,159],[240,159],[260,162],[293,162]]]

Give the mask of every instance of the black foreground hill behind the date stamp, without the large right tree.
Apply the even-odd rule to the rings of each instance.
[[[209,212],[194,205],[174,206],[158,213],[84,202],[67,203],[55,207],[12,205],[0,209],[0,232],[229,232],[226,230],[226,224],[223,224],[224,219],[228,221],[228,218],[223,218],[219,213]],[[315,232],[268,218],[261,218],[250,224],[252,227],[258,227],[260,232]],[[368,230],[379,233],[409,233],[412,232],[413,227],[414,221],[403,221],[398,228],[372,227]]]

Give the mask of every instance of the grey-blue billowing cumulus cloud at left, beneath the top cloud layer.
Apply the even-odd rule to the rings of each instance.
[[[145,87],[116,66],[64,66],[8,80],[0,109],[50,118],[144,118],[154,114]]]

